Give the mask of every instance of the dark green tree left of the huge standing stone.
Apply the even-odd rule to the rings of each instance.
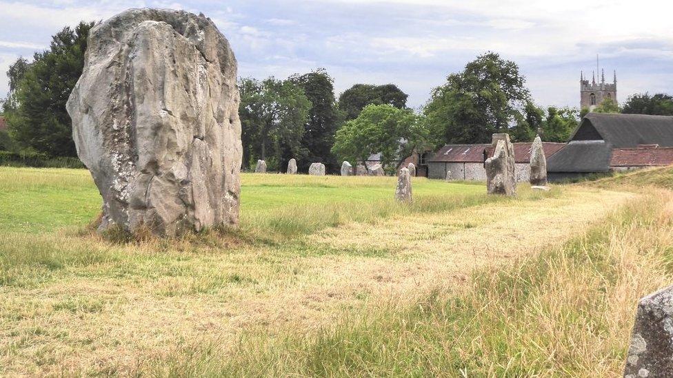
[[[84,67],[89,30],[81,22],[52,36],[49,50],[10,67],[12,92],[3,105],[10,134],[23,147],[53,156],[77,156],[66,102]]]

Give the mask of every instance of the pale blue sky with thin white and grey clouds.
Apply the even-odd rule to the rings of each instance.
[[[0,71],[48,48],[81,20],[128,8],[202,12],[229,39],[239,76],[286,78],[325,68],[337,92],[394,83],[418,109],[433,87],[493,51],[519,65],[541,106],[579,107],[579,76],[617,73],[617,96],[673,93],[673,1],[0,0]],[[0,98],[8,80],[0,76]]]

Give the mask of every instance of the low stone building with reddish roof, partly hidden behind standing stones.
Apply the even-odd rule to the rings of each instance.
[[[544,142],[545,157],[559,151],[564,143]],[[514,143],[514,168],[516,181],[530,178],[530,150],[532,143]],[[448,180],[486,180],[484,162],[493,154],[490,144],[445,145],[428,158],[428,178]],[[450,175],[447,177],[447,173]]]

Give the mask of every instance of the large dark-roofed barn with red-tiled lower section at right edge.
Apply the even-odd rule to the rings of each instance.
[[[589,113],[548,158],[550,180],[673,164],[673,117]]]

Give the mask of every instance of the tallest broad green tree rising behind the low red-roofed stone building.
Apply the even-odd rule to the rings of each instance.
[[[494,52],[478,56],[432,91],[423,115],[433,143],[489,143],[492,134],[510,132],[532,110],[524,84],[516,63]],[[518,134],[528,138],[530,131]]]

